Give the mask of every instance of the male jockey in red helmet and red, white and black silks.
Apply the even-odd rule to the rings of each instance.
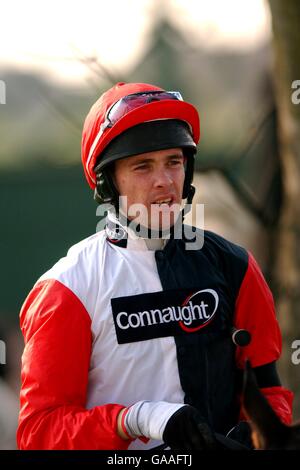
[[[210,232],[199,243],[182,224],[199,135],[197,110],[153,85],[118,83],[91,108],[82,161],[109,214],[23,305],[21,449],[215,448],[239,434],[246,357],[290,421],[255,260]],[[249,345],[234,344],[236,329]]]

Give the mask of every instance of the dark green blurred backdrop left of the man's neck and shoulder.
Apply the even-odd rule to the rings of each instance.
[[[1,317],[15,320],[38,277],[95,232],[96,204],[80,166],[0,175]]]

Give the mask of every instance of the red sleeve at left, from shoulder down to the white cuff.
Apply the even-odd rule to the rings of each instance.
[[[124,407],[86,409],[91,320],[74,293],[38,283],[21,310],[25,340],[17,442],[20,449],[127,449],[117,432]]]

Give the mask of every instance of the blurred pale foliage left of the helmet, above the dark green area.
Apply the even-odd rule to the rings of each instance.
[[[2,79],[7,96],[0,108],[0,168],[78,161],[91,93],[62,88],[29,74],[7,72]]]

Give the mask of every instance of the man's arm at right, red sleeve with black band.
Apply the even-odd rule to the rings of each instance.
[[[252,338],[248,346],[237,347],[238,367],[243,369],[245,360],[250,360],[261,392],[279,418],[284,423],[290,423],[293,394],[281,386],[275,365],[281,354],[281,334],[275,316],[274,301],[251,254],[236,302],[234,323],[236,328],[247,329]],[[241,419],[243,418],[241,415]]]

